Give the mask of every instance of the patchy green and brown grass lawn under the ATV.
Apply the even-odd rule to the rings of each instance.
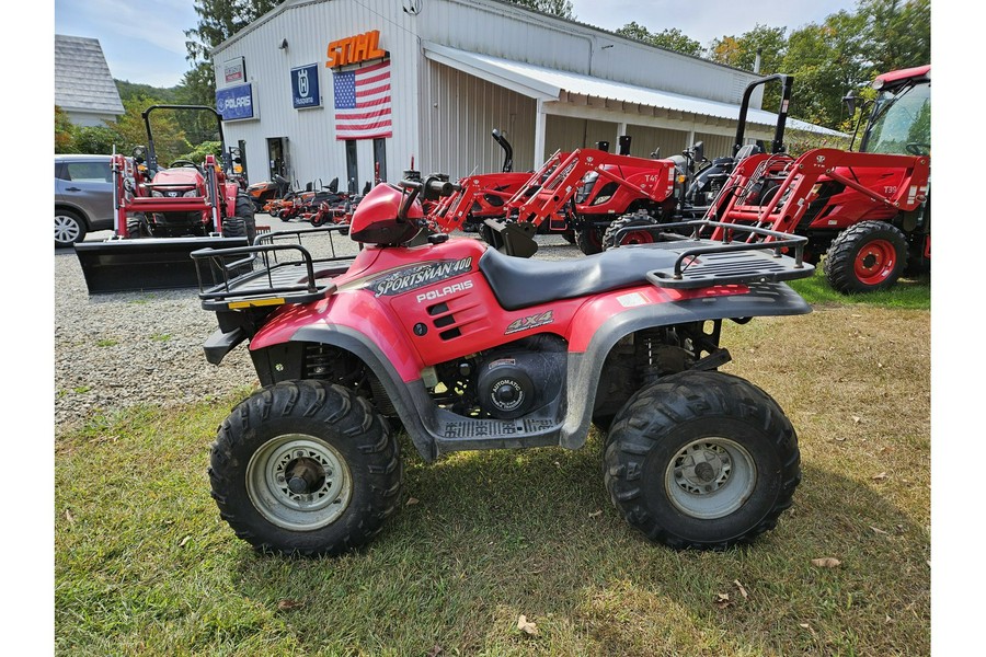
[[[724,371],[778,400],[802,450],[794,506],[752,546],[646,542],[607,496],[598,436],[577,451],[429,465],[404,438],[403,506],[369,546],[323,560],[257,554],[219,519],[206,476],[238,400],[145,408],[56,439],[56,648],[928,654],[928,290],[903,304],[805,293],[810,315],[724,328]],[[838,565],[812,563],[824,557]],[[518,630],[521,614],[536,634]]]

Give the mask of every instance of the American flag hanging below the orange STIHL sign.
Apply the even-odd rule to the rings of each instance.
[[[332,74],[335,91],[335,138],[392,137],[390,60]]]

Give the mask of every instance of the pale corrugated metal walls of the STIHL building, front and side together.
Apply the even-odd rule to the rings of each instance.
[[[536,102],[426,60],[423,42],[726,102],[737,102],[746,81],[754,78],[496,0],[423,0],[419,5],[421,11],[412,14],[397,0],[289,0],[214,53],[218,76],[223,61],[243,56],[246,81],[254,85],[261,120],[225,124],[230,145],[246,142],[252,182],[268,176],[271,137],[287,138],[289,173],[302,184],[316,178],[328,183],[335,176],[345,181],[345,147],[335,139],[332,70],[323,66],[325,50],[332,41],[369,30],[380,31],[380,47],[389,50],[392,65],[393,137],[386,142],[390,181],[400,177],[412,157],[417,169],[452,177],[500,171],[503,153],[490,136],[494,127],[505,130],[514,146],[515,170],[526,171],[535,163]],[[282,49],[284,39],[288,47]],[[294,110],[290,70],[311,64],[320,65],[322,106]],[[217,84],[226,87],[222,80]],[[616,151],[619,125],[634,117],[646,124],[627,129],[634,138],[634,154],[646,155],[655,145],[662,153],[687,146],[688,128],[680,119],[642,120],[639,115],[608,111],[578,118],[582,112],[549,114],[546,155],[557,149],[594,147],[599,140],[609,141]],[[357,161],[362,188],[372,176],[371,140],[357,142]]]

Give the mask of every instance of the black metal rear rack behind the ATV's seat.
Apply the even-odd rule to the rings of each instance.
[[[692,229],[690,235],[679,232]],[[707,229],[722,229],[719,240],[702,239]],[[661,288],[692,289],[712,285],[778,283],[812,276],[815,267],[803,260],[807,238],[766,228],[721,223],[706,219],[627,227],[617,231],[615,243],[628,232],[655,233],[652,244],[632,249],[668,249],[677,254],[673,267],[647,272],[647,280]],[[759,241],[737,242],[734,233]],[[695,245],[691,246],[690,243]],[[624,246],[626,247],[626,246]],[[784,255],[793,250],[793,257]]]

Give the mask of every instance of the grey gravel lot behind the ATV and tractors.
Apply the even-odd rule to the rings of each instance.
[[[257,215],[272,230],[299,229]],[[92,233],[101,241],[112,233]],[[581,257],[560,237],[540,237],[538,258]],[[355,243],[336,240],[337,246]],[[223,395],[257,382],[245,346],[219,366],[203,342],[216,330],[195,289],[89,295],[73,251],[55,253],[55,430],[138,403],[170,406]]]

